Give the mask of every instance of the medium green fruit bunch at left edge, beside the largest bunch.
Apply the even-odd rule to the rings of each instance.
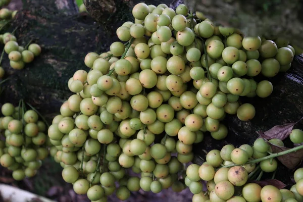
[[[45,123],[34,110],[6,103],[0,117],[0,164],[13,171],[15,180],[33,177],[51,145]]]

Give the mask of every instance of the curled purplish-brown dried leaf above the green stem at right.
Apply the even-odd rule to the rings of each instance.
[[[273,138],[278,138],[281,140],[286,139],[289,134],[291,133],[291,130],[293,128],[293,126],[298,123],[299,121],[301,121],[303,119],[300,118],[300,120],[298,120],[295,123],[287,123],[281,126],[274,126],[271,129],[269,129],[268,131],[265,132],[258,132],[260,136],[262,136],[265,139],[273,139]]]

